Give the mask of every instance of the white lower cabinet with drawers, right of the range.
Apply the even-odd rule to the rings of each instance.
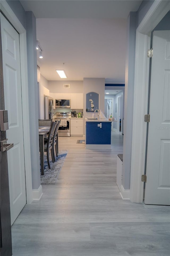
[[[83,119],[70,119],[70,135],[83,136]]]

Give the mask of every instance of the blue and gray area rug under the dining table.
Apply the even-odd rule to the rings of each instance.
[[[51,169],[48,169],[48,162],[46,153],[44,154],[44,175],[41,175],[41,184],[55,184],[57,177],[61,171],[63,163],[65,161],[68,150],[60,150],[58,157],[56,157],[56,162],[52,162],[50,156],[50,166]],[[41,167],[41,165],[40,165]]]

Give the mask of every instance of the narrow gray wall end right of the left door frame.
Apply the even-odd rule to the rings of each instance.
[[[40,182],[40,156],[38,134],[38,87],[37,87],[37,52],[36,18],[32,11],[26,12],[27,62],[28,62],[28,98],[29,129],[31,144],[32,189],[38,189]]]

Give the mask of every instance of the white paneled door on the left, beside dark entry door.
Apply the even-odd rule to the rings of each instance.
[[[26,203],[19,34],[1,14],[5,109],[14,147],[8,151],[11,225]]]

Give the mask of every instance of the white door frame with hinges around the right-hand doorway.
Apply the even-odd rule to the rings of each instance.
[[[151,31],[170,10],[170,1],[154,1],[136,30],[133,133],[130,175],[130,201],[143,202],[141,175],[145,171],[146,129],[144,115],[148,105],[149,58]]]

